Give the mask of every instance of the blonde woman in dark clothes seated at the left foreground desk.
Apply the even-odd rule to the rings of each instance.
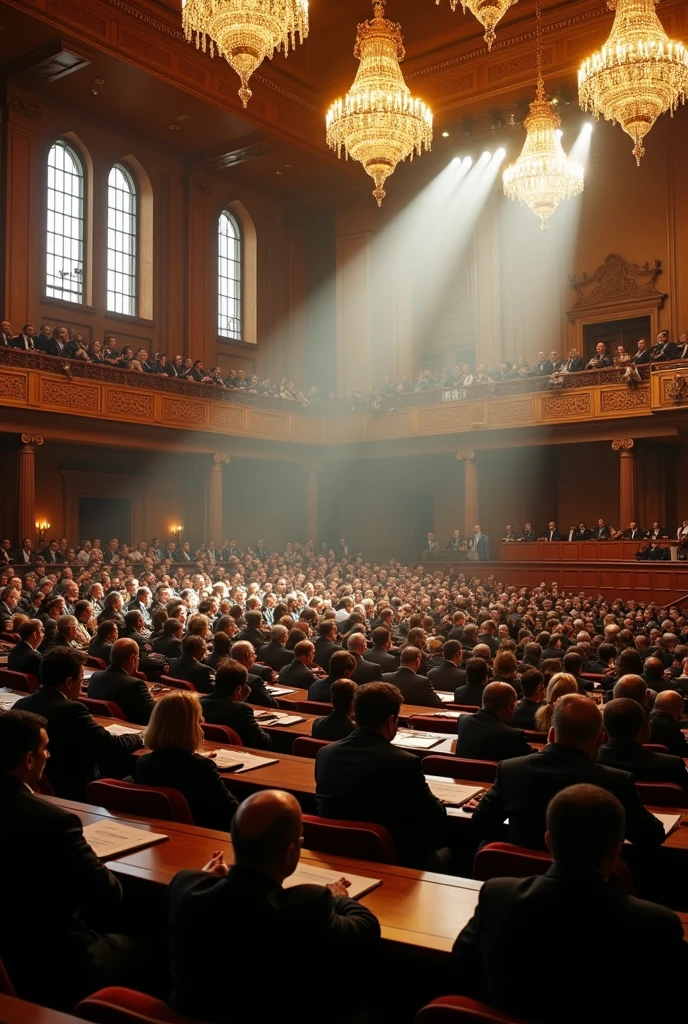
[[[197,825],[229,831],[238,802],[203,746],[203,712],[197,693],[174,690],[153,710],[143,739],[149,754],[136,758],[134,781],[178,790]]]

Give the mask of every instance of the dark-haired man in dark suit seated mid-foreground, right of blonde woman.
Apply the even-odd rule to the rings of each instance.
[[[324,818],[384,825],[399,862],[424,867],[445,845],[446,811],[428,788],[420,759],[392,745],[401,703],[389,683],[358,687],[355,731],[317,752],[315,801]]]

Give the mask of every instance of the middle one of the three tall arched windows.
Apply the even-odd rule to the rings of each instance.
[[[138,211],[136,183],[115,164],[107,177],[107,309],[136,315]]]

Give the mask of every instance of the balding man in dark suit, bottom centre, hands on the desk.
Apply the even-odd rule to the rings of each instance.
[[[302,835],[294,797],[264,790],[234,814],[230,868],[219,855],[204,871],[180,871],[172,880],[170,1006],[178,1013],[238,1024],[314,1024],[324,1007],[331,1015],[333,971],[344,982],[336,986],[337,1019],[347,995],[365,999],[359,971],[375,959],[380,926],[347,897],[344,880],[285,888],[299,863]],[[312,968],[307,984],[295,984],[294,956]]]

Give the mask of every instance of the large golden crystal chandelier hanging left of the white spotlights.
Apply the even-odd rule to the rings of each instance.
[[[373,10],[375,16],[358,26],[353,55],[360,65],[353,85],[328,111],[327,141],[338,157],[344,150],[347,159],[360,161],[381,206],[383,185],[399,161],[430,148],[432,113],[403,81],[401,27],[384,16],[385,0],[374,0]]]

